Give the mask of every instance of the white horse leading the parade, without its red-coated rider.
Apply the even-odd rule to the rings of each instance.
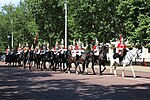
[[[123,58],[123,61],[120,63],[119,62],[119,58],[114,59],[113,57],[110,58],[110,73],[112,73],[112,68],[114,66],[114,75],[117,76],[117,72],[116,72],[116,67],[117,65],[122,65],[123,69],[122,69],[122,77],[124,77],[124,70],[126,66],[130,66],[133,77],[136,78],[134,69],[132,67],[132,62],[133,62],[133,58],[137,58],[139,57],[140,52],[138,52],[139,50],[134,48],[133,50],[129,50],[127,52],[127,54],[125,55],[125,57]]]

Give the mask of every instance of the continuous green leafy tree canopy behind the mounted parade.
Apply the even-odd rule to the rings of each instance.
[[[150,42],[149,0],[24,0],[18,6],[8,4],[0,11],[0,48],[9,44],[8,34],[14,35],[14,46],[46,40],[52,47],[64,38],[65,9],[68,8],[68,40],[100,42],[116,40],[119,34],[131,43]]]

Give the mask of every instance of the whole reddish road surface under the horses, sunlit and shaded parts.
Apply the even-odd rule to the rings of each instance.
[[[90,71],[90,69],[89,69]],[[150,73],[126,77],[31,71],[0,62],[0,100],[150,100]]]

